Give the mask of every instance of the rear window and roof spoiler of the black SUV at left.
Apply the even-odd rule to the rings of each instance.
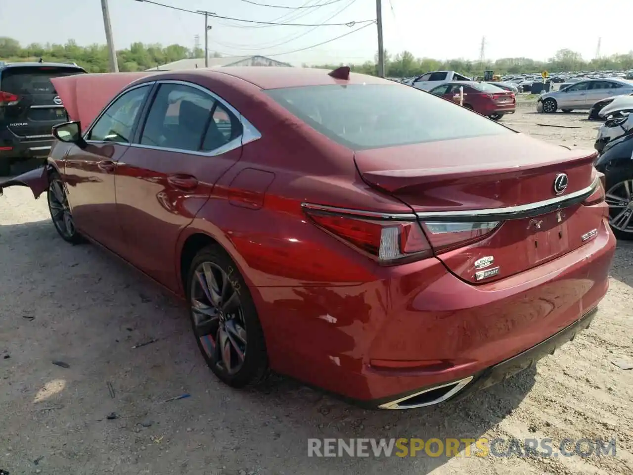
[[[20,66],[6,68],[0,73],[0,91],[19,96],[35,94],[56,94],[52,77],[70,76],[84,73],[79,68],[63,66]]]

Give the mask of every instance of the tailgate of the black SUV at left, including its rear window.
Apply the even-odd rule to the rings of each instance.
[[[5,68],[0,91],[18,96],[15,105],[4,106],[8,129],[24,139],[51,136],[51,127],[68,120],[68,115],[51,82],[54,77],[85,73],[77,66],[22,66]]]

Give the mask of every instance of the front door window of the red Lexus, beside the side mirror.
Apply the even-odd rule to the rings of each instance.
[[[130,143],[134,124],[149,89],[150,86],[145,85],[119,96],[95,122],[87,140]]]

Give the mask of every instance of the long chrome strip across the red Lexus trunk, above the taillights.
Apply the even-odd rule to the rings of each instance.
[[[536,201],[527,205],[508,206],[506,208],[487,208],[483,210],[459,210],[459,211],[439,211],[439,212],[419,212],[419,213],[382,213],[366,210],[353,210],[351,208],[337,208],[336,206],[315,205],[313,203],[301,203],[302,208],[320,211],[324,213],[336,213],[344,215],[354,215],[385,220],[437,220],[442,222],[487,222],[507,221],[511,219],[523,219],[543,215],[549,212],[566,208],[581,203],[591,196],[596,187],[599,186],[599,179],[586,188],[573,193],[556,196],[549,200]]]

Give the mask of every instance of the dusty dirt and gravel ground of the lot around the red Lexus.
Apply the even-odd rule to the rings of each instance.
[[[534,99],[521,99],[502,122],[592,147],[597,125],[585,113],[534,110]],[[0,255],[0,469],[11,475],[633,473],[633,371],[611,364],[633,362],[630,244],[618,244],[592,327],[536,371],[465,402],[409,412],[356,409],[283,377],[260,390],[223,386],[199,356],[183,308],[96,246],[64,243],[46,201],[27,189],[0,198]],[[191,397],[164,402],[183,393]],[[111,412],[118,419],[106,419]],[[307,457],[308,438],[480,436],[617,438],[617,455]]]

